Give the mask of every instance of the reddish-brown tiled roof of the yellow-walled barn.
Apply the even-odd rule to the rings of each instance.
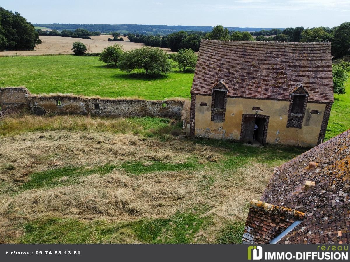
[[[210,95],[220,79],[229,96],[289,100],[301,83],[309,101],[334,101],[330,42],[202,39],[191,93]]]

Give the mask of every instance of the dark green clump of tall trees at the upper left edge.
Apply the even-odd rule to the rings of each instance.
[[[34,26],[18,12],[0,7],[0,50],[33,50],[41,44]]]

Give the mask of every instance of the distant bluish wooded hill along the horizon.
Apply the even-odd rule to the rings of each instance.
[[[167,35],[178,31],[202,31],[209,32],[213,27],[201,26],[164,26],[164,25],[149,25],[149,24],[34,24],[35,27],[46,27],[56,30],[75,30],[83,28],[88,31],[100,31],[102,33],[118,31],[120,33],[139,33],[145,35]],[[228,27],[229,30],[255,32],[260,30],[271,30],[272,28],[260,27]],[[283,28],[279,28],[283,29]]]

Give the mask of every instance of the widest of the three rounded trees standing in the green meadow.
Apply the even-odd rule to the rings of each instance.
[[[160,48],[144,46],[124,52],[119,63],[120,70],[131,73],[135,69],[144,69],[145,74],[149,73],[166,74],[172,70],[172,65],[168,60],[168,54]]]

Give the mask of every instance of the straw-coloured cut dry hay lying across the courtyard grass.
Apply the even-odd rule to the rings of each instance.
[[[5,230],[9,223],[48,216],[87,221],[135,221],[169,218],[177,212],[201,207],[205,210],[202,216],[210,217],[214,224],[205,232],[198,232],[196,239],[198,242],[215,242],[216,233],[229,221],[245,220],[250,200],[260,198],[273,171],[255,162],[237,170],[223,170],[219,165],[227,152],[221,148],[193,141],[160,141],[133,134],[115,134],[117,120],[113,119],[25,116],[19,125],[35,125],[39,119],[88,128],[85,131],[33,131],[0,137],[2,240],[22,234],[14,227]],[[3,123],[7,122],[4,120]],[[99,131],[97,126],[106,129]],[[176,165],[193,159],[203,165],[176,171],[152,169],[156,163]],[[127,161],[153,171],[138,175],[129,173],[128,169],[120,167]],[[116,167],[105,175],[92,173],[73,180],[62,174],[53,188],[21,190],[33,172],[67,166],[92,169],[106,164]]]

